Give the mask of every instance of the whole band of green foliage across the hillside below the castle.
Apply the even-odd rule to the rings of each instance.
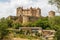
[[[43,17],[37,20],[36,22],[29,22],[26,25],[22,25],[21,23],[14,22],[12,19],[1,18],[0,19],[0,40],[4,38],[4,36],[9,34],[7,29],[19,29],[19,27],[41,27],[42,29],[53,29],[56,30],[56,38],[60,33],[58,30],[60,29],[60,16],[56,16],[53,18]]]

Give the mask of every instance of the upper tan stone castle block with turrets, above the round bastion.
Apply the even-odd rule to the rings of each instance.
[[[32,7],[30,7],[29,9],[28,8],[23,9],[23,7],[18,7],[17,8],[17,16],[20,16],[20,15],[40,17],[41,9],[40,8],[32,8]]]

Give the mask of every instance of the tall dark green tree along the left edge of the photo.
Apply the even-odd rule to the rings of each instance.
[[[5,18],[1,18],[0,20],[0,40],[2,40],[4,38],[4,36],[6,36],[8,34],[8,25],[6,23],[6,19]]]

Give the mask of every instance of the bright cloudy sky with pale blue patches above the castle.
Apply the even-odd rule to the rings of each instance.
[[[42,10],[42,16],[47,16],[50,10],[57,10],[54,5],[48,4],[48,0],[0,0],[0,18],[9,15],[15,16],[16,8],[19,6],[23,6],[23,8],[39,7]]]

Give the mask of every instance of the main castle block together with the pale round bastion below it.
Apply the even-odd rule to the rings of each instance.
[[[36,21],[41,17],[41,9],[40,8],[32,8],[30,9],[23,9],[23,7],[17,8],[18,17],[22,17],[22,23],[27,23],[28,21]]]

